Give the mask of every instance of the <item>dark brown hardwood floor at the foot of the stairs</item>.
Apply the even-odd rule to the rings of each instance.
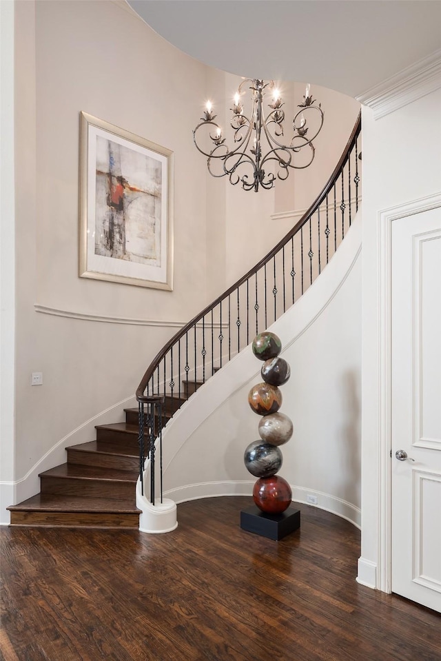
[[[250,498],[178,506],[176,531],[3,528],[3,661],[441,661],[441,618],[356,583],[360,533],[300,505],[274,542]]]

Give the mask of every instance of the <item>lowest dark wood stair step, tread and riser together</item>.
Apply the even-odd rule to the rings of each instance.
[[[140,511],[133,499],[37,494],[8,510],[12,526],[139,527]]]

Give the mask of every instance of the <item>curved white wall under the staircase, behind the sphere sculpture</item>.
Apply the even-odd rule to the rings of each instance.
[[[361,219],[318,280],[270,327],[291,378],[280,387],[280,411],[294,436],[280,447],[279,474],[294,500],[360,525]],[[348,310],[351,314],[347,314]],[[186,403],[163,436],[165,494],[177,500],[251,494],[256,481],[243,464],[257,440],[260,416],[247,396],[260,383],[261,363],[247,347]],[[355,569],[355,568],[354,568]]]

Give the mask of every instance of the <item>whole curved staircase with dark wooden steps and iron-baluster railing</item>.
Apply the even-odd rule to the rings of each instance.
[[[141,438],[150,434],[154,445],[161,431],[157,420],[150,429],[145,425],[143,402],[163,400],[164,427],[209,376],[276,321],[320,275],[358,210],[360,130],[359,116],[329,181],[287,236],[154,358],[136,390],[139,409],[125,409],[125,423],[96,426],[96,440],[67,447],[67,462],[39,475],[40,493],[8,507],[10,525],[139,529]]]

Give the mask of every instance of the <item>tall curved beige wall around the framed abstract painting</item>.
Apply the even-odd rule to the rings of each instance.
[[[277,193],[212,179],[193,145],[207,96],[228,88],[229,99],[237,77],[179,52],[122,1],[17,1],[14,11],[18,407],[1,480],[19,501],[39,491],[39,471],[63,462],[66,445],[121,419],[163,343],[287,227],[267,229]],[[354,102],[339,99],[351,116],[344,145]],[[81,110],[174,152],[173,292],[78,277]],[[32,372],[43,372],[42,386],[30,386]]]

